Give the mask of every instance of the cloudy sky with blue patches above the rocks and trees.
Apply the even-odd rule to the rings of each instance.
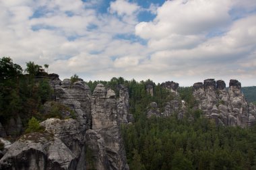
[[[255,0],[0,0],[0,55],[60,79],[256,85]]]

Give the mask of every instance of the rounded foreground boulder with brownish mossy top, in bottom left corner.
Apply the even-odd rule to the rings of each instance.
[[[22,136],[0,160],[0,169],[75,169],[75,165],[75,155],[59,138],[40,133]]]

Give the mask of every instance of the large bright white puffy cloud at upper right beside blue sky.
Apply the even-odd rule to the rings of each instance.
[[[166,1],[158,8],[153,22],[137,24],[142,38],[164,38],[170,34],[203,34],[230,22],[229,1]]]

